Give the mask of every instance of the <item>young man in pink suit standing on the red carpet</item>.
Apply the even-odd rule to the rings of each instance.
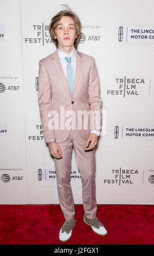
[[[59,239],[68,241],[76,222],[70,186],[72,148],[81,174],[84,222],[96,234],[106,235],[105,227],[96,217],[95,145],[100,134],[102,100],[95,60],[76,50],[81,23],[70,8],[52,18],[49,33],[57,50],[39,61],[38,100],[44,139],[54,157],[59,203],[65,217]],[[84,115],[81,117],[79,112]],[[83,116],[86,128],[82,127]]]

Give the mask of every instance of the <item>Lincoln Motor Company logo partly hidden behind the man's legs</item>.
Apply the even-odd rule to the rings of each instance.
[[[39,168],[37,170],[38,180],[39,181],[54,181],[56,180],[56,171],[52,168]],[[79,180],[81,179],[81,175],[79,170],[70,170],[70,179],[71,180]]]

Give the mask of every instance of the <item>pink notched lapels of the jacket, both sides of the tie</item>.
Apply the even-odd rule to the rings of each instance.
[[[64,86],[66,87],[67,92],[70,94],[70,97],[73,97],[73,93],[78,82],[79,76],[81,76],[82,71],[82,53],[76,50],[76,69],[75,69],[75,76],[74,76],[74,84],[73,84],[73,92],[72,95],[69,90],[69,85],[67,82],[67,78],[65,76],[65,72],[63,71],[60,58],[58,55],[57,50],[52,54],[52,58],[54,59],[54,65],[57,71],[58,76],[60,77],[61,81],[64,82]]]

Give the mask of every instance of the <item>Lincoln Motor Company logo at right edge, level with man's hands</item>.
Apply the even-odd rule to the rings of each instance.
[[[119,126],[114,127],[114,138],[151,139],[154,138],[153,127]]]

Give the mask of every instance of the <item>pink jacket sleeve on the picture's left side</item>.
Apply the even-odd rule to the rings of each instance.
[[[50,117],[48,113],[52,110],[52,92],[50,87],[49,75],[42,64],[42,60],[39,61],[39,86],[38,86],[38,101],[40,107],[40,117],[42,122],[42,130],[46,143],[52,139],[55,139],[54,129],[49,129],[48,122]]]

